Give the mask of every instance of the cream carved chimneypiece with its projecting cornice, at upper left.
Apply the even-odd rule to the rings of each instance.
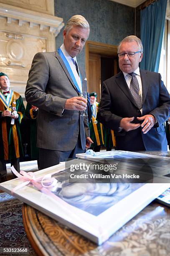
[[[43,1],[46,8],[48,1]],[[63,18],[1,2],[0,0],[0,72],[8,74],[11,88],[24,98],[25,81],[28,79],[33,56],[37,52],[56,50],[55,38],[64,26]],[[13,0],[7,2],[14,3]],[[16,2],[29,2],[33,6],[40,4],[36,0]]]

